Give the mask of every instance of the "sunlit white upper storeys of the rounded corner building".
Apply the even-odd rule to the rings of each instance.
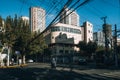
[[[53,24],[47,31],[45,36],[46,43],[49,45],[56,44],[65,44],[65,45],[77,45],[79,41],[82,41],[81,27],[57,23]],[[61,46],[63,47],[63,46]],[[59,53],[59,47],[56,49]],[[71,47],[70,47],[71,48]],[[70,50],[70,48],[68,50]],[[64,48],[65,49],[65,48]],[[73,47],[75,51],[78,51],[77,48]],[[55,49],[53,49],[55,50]],[[66,51],[70,53],[70,51]]]

